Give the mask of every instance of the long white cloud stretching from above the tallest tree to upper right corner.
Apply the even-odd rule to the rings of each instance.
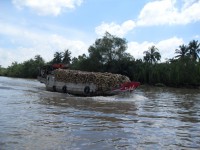
[[[184,25],[200,21],[199,0],[182,0],[182,4],[181,9],[178,9],[177,0],[151,1],[143,7],[136,21],[127,20],[121,25],[114,22],[102,23],[95,28],[95,32],[99,36],[103,36],[107,31],[124,37],[128,32],[140,26]]]

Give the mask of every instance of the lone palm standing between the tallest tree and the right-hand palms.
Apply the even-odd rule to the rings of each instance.
[[[144,61],[152,63],[156,63],[161,59],[161,55],[158,52],[158,49],[153,45],[149,47],[148,51],[143,52],[145,54]]]

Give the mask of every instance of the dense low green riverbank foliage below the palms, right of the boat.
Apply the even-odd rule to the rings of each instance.
[[[176,61],[173,63],[142,64],[139,72],[139,81],[155,85],[163,83],[167,86],[199,86],[200,85],[200,63],[191,60]]]

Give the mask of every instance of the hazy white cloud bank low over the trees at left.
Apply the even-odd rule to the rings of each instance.
[[[6,27],[6,28],[4,28]],[[58,34],[44,34],[9,24],[0,24],[0,35],[8,36],[12,48],[0,47],[0,65],[7,67],[12,62],[19,63],[41,55],[50,61],[56,51],[69,49],[72,57],[87,53],[89,45],[80,40],[67,39]]]

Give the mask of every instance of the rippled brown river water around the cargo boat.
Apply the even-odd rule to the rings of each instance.
[[[76,97],[0,77],[0,150],[200,149],[200,90]]]

